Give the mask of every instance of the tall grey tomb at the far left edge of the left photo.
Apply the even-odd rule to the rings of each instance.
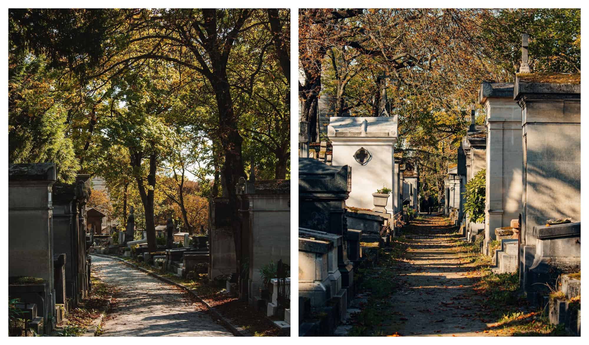
[[[53,245],[54,163],[8,165],[8,277],[45,281],[44,321],[51,332],[55,312]],[[27,301],[24,301],[27,303]]]

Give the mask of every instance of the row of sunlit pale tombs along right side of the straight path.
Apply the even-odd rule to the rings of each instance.
[[[553,323],[579,333],[580,80],[548,77],[552,82],[517,74],[514,83],[481,84],[485,124],[475,125],[472,110],[458,161],[448,164],[444,212],[465,240],[492,257],[495,272],[517,273],[531,303],[549,308]],[[476,222],[464,211],[464,193],[483,170],[484,221]],[[564,297],[550,297],[551,290]]]

